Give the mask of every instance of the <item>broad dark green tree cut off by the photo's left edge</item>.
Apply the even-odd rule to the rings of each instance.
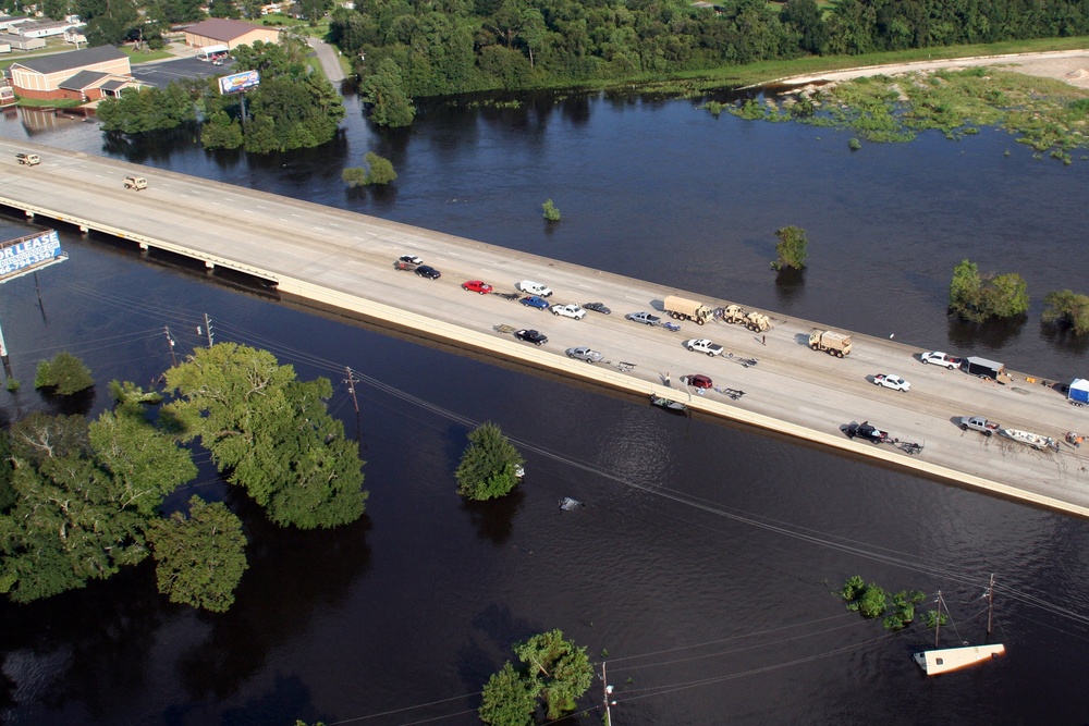
[[[14,602],[82,588],[147,556],[162,497],[196,475],[142,416],[32,414],[11,428],[15,503],[0,516],[0,591]]]

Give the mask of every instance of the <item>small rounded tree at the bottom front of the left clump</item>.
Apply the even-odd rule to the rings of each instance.
[[[159,592],[170,602],[223,613],[246,570],[242,520],[222,503],[189,500],[188,516],[175,512],[147,530]]]

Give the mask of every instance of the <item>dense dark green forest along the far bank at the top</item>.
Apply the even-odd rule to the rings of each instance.
[[[359,0],[330,26],[362,77],[392,60],[411,97],[1086,34],[1089,0]]]

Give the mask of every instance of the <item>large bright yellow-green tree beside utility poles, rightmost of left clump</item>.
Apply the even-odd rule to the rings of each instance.
[[[326,408],[328,379],[296,381],[270,353],[233,343],[199,348],[166,376],[176,393],[167,414],[269,519],[313,529],[363,515],[363,462]]]

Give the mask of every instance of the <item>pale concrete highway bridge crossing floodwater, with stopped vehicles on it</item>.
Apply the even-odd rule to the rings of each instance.
[[[14,152],[24,148],[40,153],[41,164],[19,167]],[[712,306],[732,300],[100,157],[0,140],[0,169],[5,182],[0,202],[63,207],[69,216],[91,221],[94,229],[124,226],[136,235],[185,244],[195,254],[234,266],[259,267],[273,279],[309,281],[331,291],[329,298],[343,300],[342,307],[360,299],[384,304],[392,310],[382,313],[387,319],[444,336],[452,345],[521,358],[644,395],[665,391],[661,376],[666,371],[674,386],[683,374],[706,373],[720,387],[746,392],[736,402],[715,392],[693,396],[695,405],[711,414],[742,420],[771,417],[774,420],[762,421],[766,428],[859,454],[880,452],[893,462],[939,465],[968,475],[964,480],[981,477],[1089,507],[1089,471],[1082,454],[1089,447],[1075,451],[1063,445],[1060,453],[1035,452],[998,436],[962,432],[952,422],[954,417],[979,414],[1007,427],[1057,438],[1067,430],[1089,428],[1089,413],[1069,406],[1055,391],[1027,381],[1023,373],[1015,373],[1006,384],[981,381],[923,366],[918,350],[894,341],[861,335],[854,336],[854,353],[839,359],[808,348],[808,331],[815,323],[785,319],[774,311],[768,311],[775,327],[767,333],[767,345],[758,334],[726,323],[684,323],[681,333],[648,328],[624,320],[624,313],[660,309],[670,294]],[[123,176],[134,172],[149,180],[147,190],[122,188]],[[442,270],[442,278],[429,281],[395,271],[393,260],[405,253],[424,257]],[[523,279],[539,280],[556,291],[553,302],[601,300],[614,313],[590,313],[580,321],[561,319],[495,295],[462,291],[460,283],[472,279],[490,282],[500,292],[514,292],[514,283]],[[497,324],[536,328],[550,341],[542,348],[521,344],[510,334],[493,332]],[[721,343],[735,357],[758,358],[759,365],[745,368],[725,357],[689,353],[682,345],[687,337],[702,336]],[[613,362],[635,362],[636,368],[622,374],[610,366],[589,366],[563,355],[565,348],[579,345],[601,350]],[[911,392],[873,385],[868,377],[879,372],[905,377],[913,384]],[[669,393],[682,399],[689,395],[683,389]],[[864,419],[926,448],[920,456],[908,457],[888,446],[847,441],[840,433],[842,424]]]

